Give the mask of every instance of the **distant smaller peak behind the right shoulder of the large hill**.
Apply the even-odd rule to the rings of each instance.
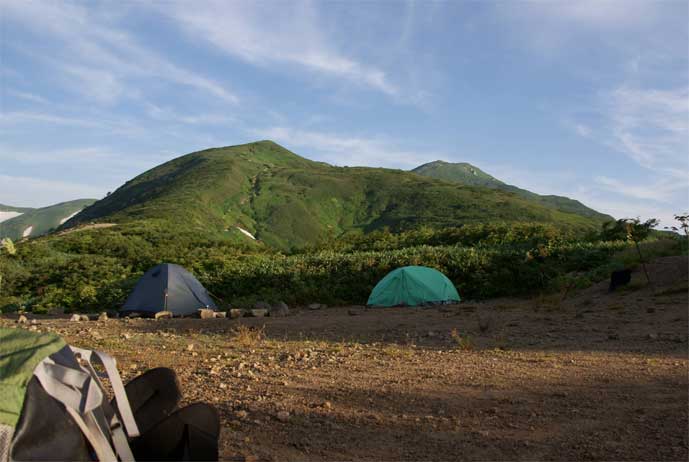
[[[416,167],[412,172],[426,177],[445,180],[452,183],[459,183],[465,186],[482,186],[484,188],[499,189],[516,194],[517,196],[528,199],[529,201],[543,205],[545,207],[559,210],[560,212],[573,213],[583,217],[592,218],[598,221],[613,220],[610,215],[597,212],[586,207],[581,202],[564,196],[554,196],[533,193],[526,189],[518,188],[507,183],[503,183],[497,178],[487,174],[478,167],[474,167],[466,162],[450,163],[436,160]]]

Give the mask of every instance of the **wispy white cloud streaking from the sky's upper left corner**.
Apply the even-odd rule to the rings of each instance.
[[[204,91],[227,103],[238,98],[219,83],[179,67],[140,45],[107,15],[67,2],[2,2],[3,21],[22,24],[61,44],[57,55],[36,55],[55,67],[56,79],[80,95],[102,103],[136,94],[136,78],[163,79]],[[23,50],[24,46],[16,44]]]

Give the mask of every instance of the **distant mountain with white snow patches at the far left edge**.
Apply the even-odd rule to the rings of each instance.
[[[0,211],[22,212],[0,223],[0,238],[9,237],[16,240],[46,234],[95,201],[95,199],[77,199],[38,209],[5,208],[6,206],[0,205]]]

